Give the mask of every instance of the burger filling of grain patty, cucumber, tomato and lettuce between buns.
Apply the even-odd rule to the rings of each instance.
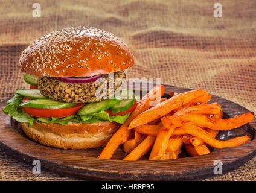
[[[24,80],[31,89],[16,90],[16,95],[7,101],[3,111],[18,122],[27,122],[28,126],[33,125],[34,121],[62,125],[103,121],[123,124],[135,109],[139,98],[132,90],[122,90],[122,81],[114,81],[112,92],[109,75],[101,77],[106,85],[97,83],[97,80],[70,83],[57,77],[37,78],[25,74]],[[114,80],[125,77],[123,71],[114,73]],[[100,86],[107,86],[100,92],[106,98],[97,96]]]

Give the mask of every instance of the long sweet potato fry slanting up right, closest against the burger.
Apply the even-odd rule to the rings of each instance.
[[[129,136],[128,126],[133,119],[136,118],[140,113],[144,112],[145,110],[149,109],[150,101],[155,101],[159,97],[164,95],[164,86],[155,86],[152,90],[150,90],[147,95],[145,95],[139,104],[137,104],[135,110],[130,114],[129,118],[126,119],[126,122],[118,129],[118,131],[110,138],[109,142],[107,142],[106,147],[101,152],[98,158],[100,159],[111,159],[112,155],[114,154],[115,150],[117,150],[118,146],[121,142],[125,142],[125,136]],[[127,134],[128,133],[128,134]]]

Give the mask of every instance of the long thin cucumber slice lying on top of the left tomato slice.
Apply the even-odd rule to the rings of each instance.
[[[76,106],[76,103],[63,103],[51,99],[35,99],[21,103],[22,107],[34,107],[37,109],[63,109]]]

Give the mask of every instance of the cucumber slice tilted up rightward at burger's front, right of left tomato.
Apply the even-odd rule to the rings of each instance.
[[[79,111],[78,115],[82,116],[91,116],[94,113],[101,112],[103,110],[107,110],[110,107],[114,106],[115,104],[120,103],[121,100],[117,99],[106,99],[103,101],[95,102],[95,103],[88,103],[83,106]]]

